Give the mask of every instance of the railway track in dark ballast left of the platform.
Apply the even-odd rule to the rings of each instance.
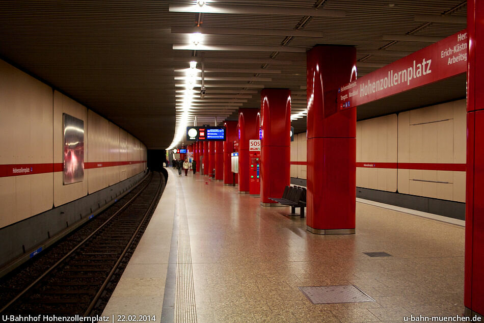
[[[164,184],[164,176],[152,172],[139,190],[126,195],[119,201],[121,205],[113,205],[112,214],[105,216],[107,219],[102,219],[102,223],[87,236],[84,233],[81,239],[75,233],[71,234],[68,238],[77,240],[75,246],[62,257],[57,255],[59,259],[39,272],[38,277],[32,281],[24,279],[19,289],[18,278],[29,273],[29,268],[24,267],[11,280],[5,280],[0,290],[11,288],[16,292],[9,295],[7,301],[3,291],[5,304],[0,313],[101,314],[102,298],[105,298],[106,290],[114,290],[116,278],[119,279],[148,225]],[[56,256],[55,247],[50,252]],[[52,262],[48,254],[43,257]],[[15,279],[15,276],[18,277]]]

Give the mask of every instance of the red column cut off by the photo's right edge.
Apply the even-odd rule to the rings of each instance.
[[[467,2],[466,314],[484,315],[484,3]]]

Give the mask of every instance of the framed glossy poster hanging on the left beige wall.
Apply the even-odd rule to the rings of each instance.
[[[84,121],[64,113],[63,124],[62,178],[66,185],[84,180]]]

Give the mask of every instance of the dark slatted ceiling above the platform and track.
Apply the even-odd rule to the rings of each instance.
[[[248,50],[174,50],[173,44],[189,44],[189,34],[172,34],[175,26],[210,28],[254,28],[257,30],[301,29],[320,32],[320,37],[285,37],[251,35],[204,35],[204,45],[291,46],[305,49],[316,44],[345,44],[357,47],[357,59],[370,66],[389,64],[398,56],[366,55],[365,50],[416,51],[431,43],[384,40],[383,34],[447,37],[466,26],[458,23],[415,21],[418,14],[466,15],[466,2],[459,0],[218,0],[217,5],[319,8],[342,10],[344,17],[311,17],[267,14],[215,14],[170,12],[170,4],[196,5],[195,0],[111,0],[56,1],[3,0],[0,2],[0,57],[30,72],[46,83],[114,121],[143,141],[148,148],[164,149],[172,144],[181,110],[175,109],[177,90],[182,75],[175,69],[189,67],[189,59],[231,59],[229,62],[206,62],[209,68],[277,69],[281,74],[207,73],[210,77],[270,77],[271,81],[210,81],[219,88],[208,88],[207,95],[229,91],[235,97],[245,88],[289,88],[293,97],[303,99],[294,112],[304,110],[306,54]],[[208,1],[210,4],[210,1]],[[271,9],[272,10],[272,9]],[[186,58],[186,61],[181,61]],[[249,63],[246,59],[271,61]],[[275,60],[274,60],[275,59]],[[240,60],[240,62],[237,62]],[[277,60],[290,60],[277,63]],[[373,65],[371,65],[373,64]],[[201,64],[197,65],[201,68]],[[361,66],[358,75],[377,67]],[[453,82],[453,83],[452,83]],[[465,79],[456,78],[432,86],[432,100],[461,96]],[[208,83],[208,81],[207,81]],[[452,84],[451,84],[452,83]],[[234,87],[233,85],[239,85]],[[450,84],[450,85],[449,85]],[[458,85],[459,91],[449,86]],[[260,106],[260,89],[252,93],[242,107]],[[199,89],[195,88],[196,91]],[[227,92],[226,92],[227,93]],[[414,93],[418,94],[418,93]],[[409,97],[407,105],[418,104]],[[227,97],[226,102],[233,101]],[[427,100],[428,101],[428,100]],[[437,102],[437,101],[436,101]],[[359,111],[366,116],[384,114],[388,102],[367,105]],[[390,102],[393,104],[393,101]],[[429,103],[429,102],[426,102]],[[405,105],[404,103],[398,103]],[[406,105],[406,106],[407,106]],[[235,108],[236,109],[236,108]],[[387,110],[386,110],[387,109]],[[195,112],[196,111],[196,112]],[[388,112],[387,111],[387,112]],[[187,122],[193,124],[236,119],[236,110],[226,106],[207,106],[190,112]],[[296,132],[306,130],[306,119],[292,122]],[[181,143],[180,143],[181,144]]]

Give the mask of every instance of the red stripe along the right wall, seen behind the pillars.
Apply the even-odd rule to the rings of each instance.
[[[291,162],[291,165],[307,165],[307,162]],[[465,172],[466,164],[443,163],[356,163],[361,168],[416,169],[426,171]]]

